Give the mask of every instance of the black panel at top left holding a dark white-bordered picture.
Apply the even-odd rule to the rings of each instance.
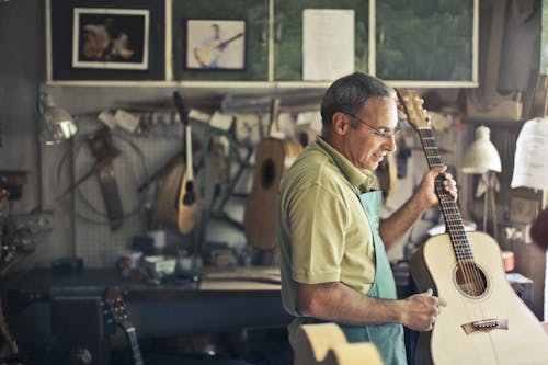
[[[47,0],[47,79],[165,79],[165,1]]]

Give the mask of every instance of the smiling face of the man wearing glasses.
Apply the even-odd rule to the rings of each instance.
[[[357,128],[350,128],[344,136],[344,151],[351,162],[359,169],[375,170],[385,156],[396,150],[393,134],[379,136],[378,130],[393,132],[398,125],[396,101],[390,98],[373,98],[366,101],[355,117],[345,114],[349,123],[358,123]],[[367,125],[366,125],[367,124]]]

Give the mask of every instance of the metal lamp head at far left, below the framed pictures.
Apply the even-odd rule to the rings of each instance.
[[[55,105],[54,99],[43,93],[41,98],[39,139],[46,145],[57,145],[70,139],[78,128],[72,116]]]

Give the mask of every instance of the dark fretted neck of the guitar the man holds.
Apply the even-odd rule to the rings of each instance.
[[[429,167],[443,167],[442,157],[439,156],[439,149],[437,148],[436,141],[432,134],[431,128],[419,128],[419,135],[421,137],[422,147],[424,155],[426,157]],[[473,260],[473,254],[470,249],[470,243],[468,242],[468,237],[466,236],[465,226],[463,223],[463,217],[458,205],[445,191],[444,176],[438,175],[434,183],[436,195],[439,201],[439,208],[444,216],[445,226],[447,233],[449,235],[453,248],[455,250],[455,255],[458,261],[470,261]]]

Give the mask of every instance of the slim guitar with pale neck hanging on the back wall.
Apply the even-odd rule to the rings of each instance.
[[[173,100],[181,122],[185,126],[186,164],[179,191],[178,228],[182,235],[187,235],[196,224],[198,210],[198,194],[194,180],[194,162],[192,158],[192,128],[189,122],[189,111],[184,105],[183,98],[175,91],[173,92]]]

